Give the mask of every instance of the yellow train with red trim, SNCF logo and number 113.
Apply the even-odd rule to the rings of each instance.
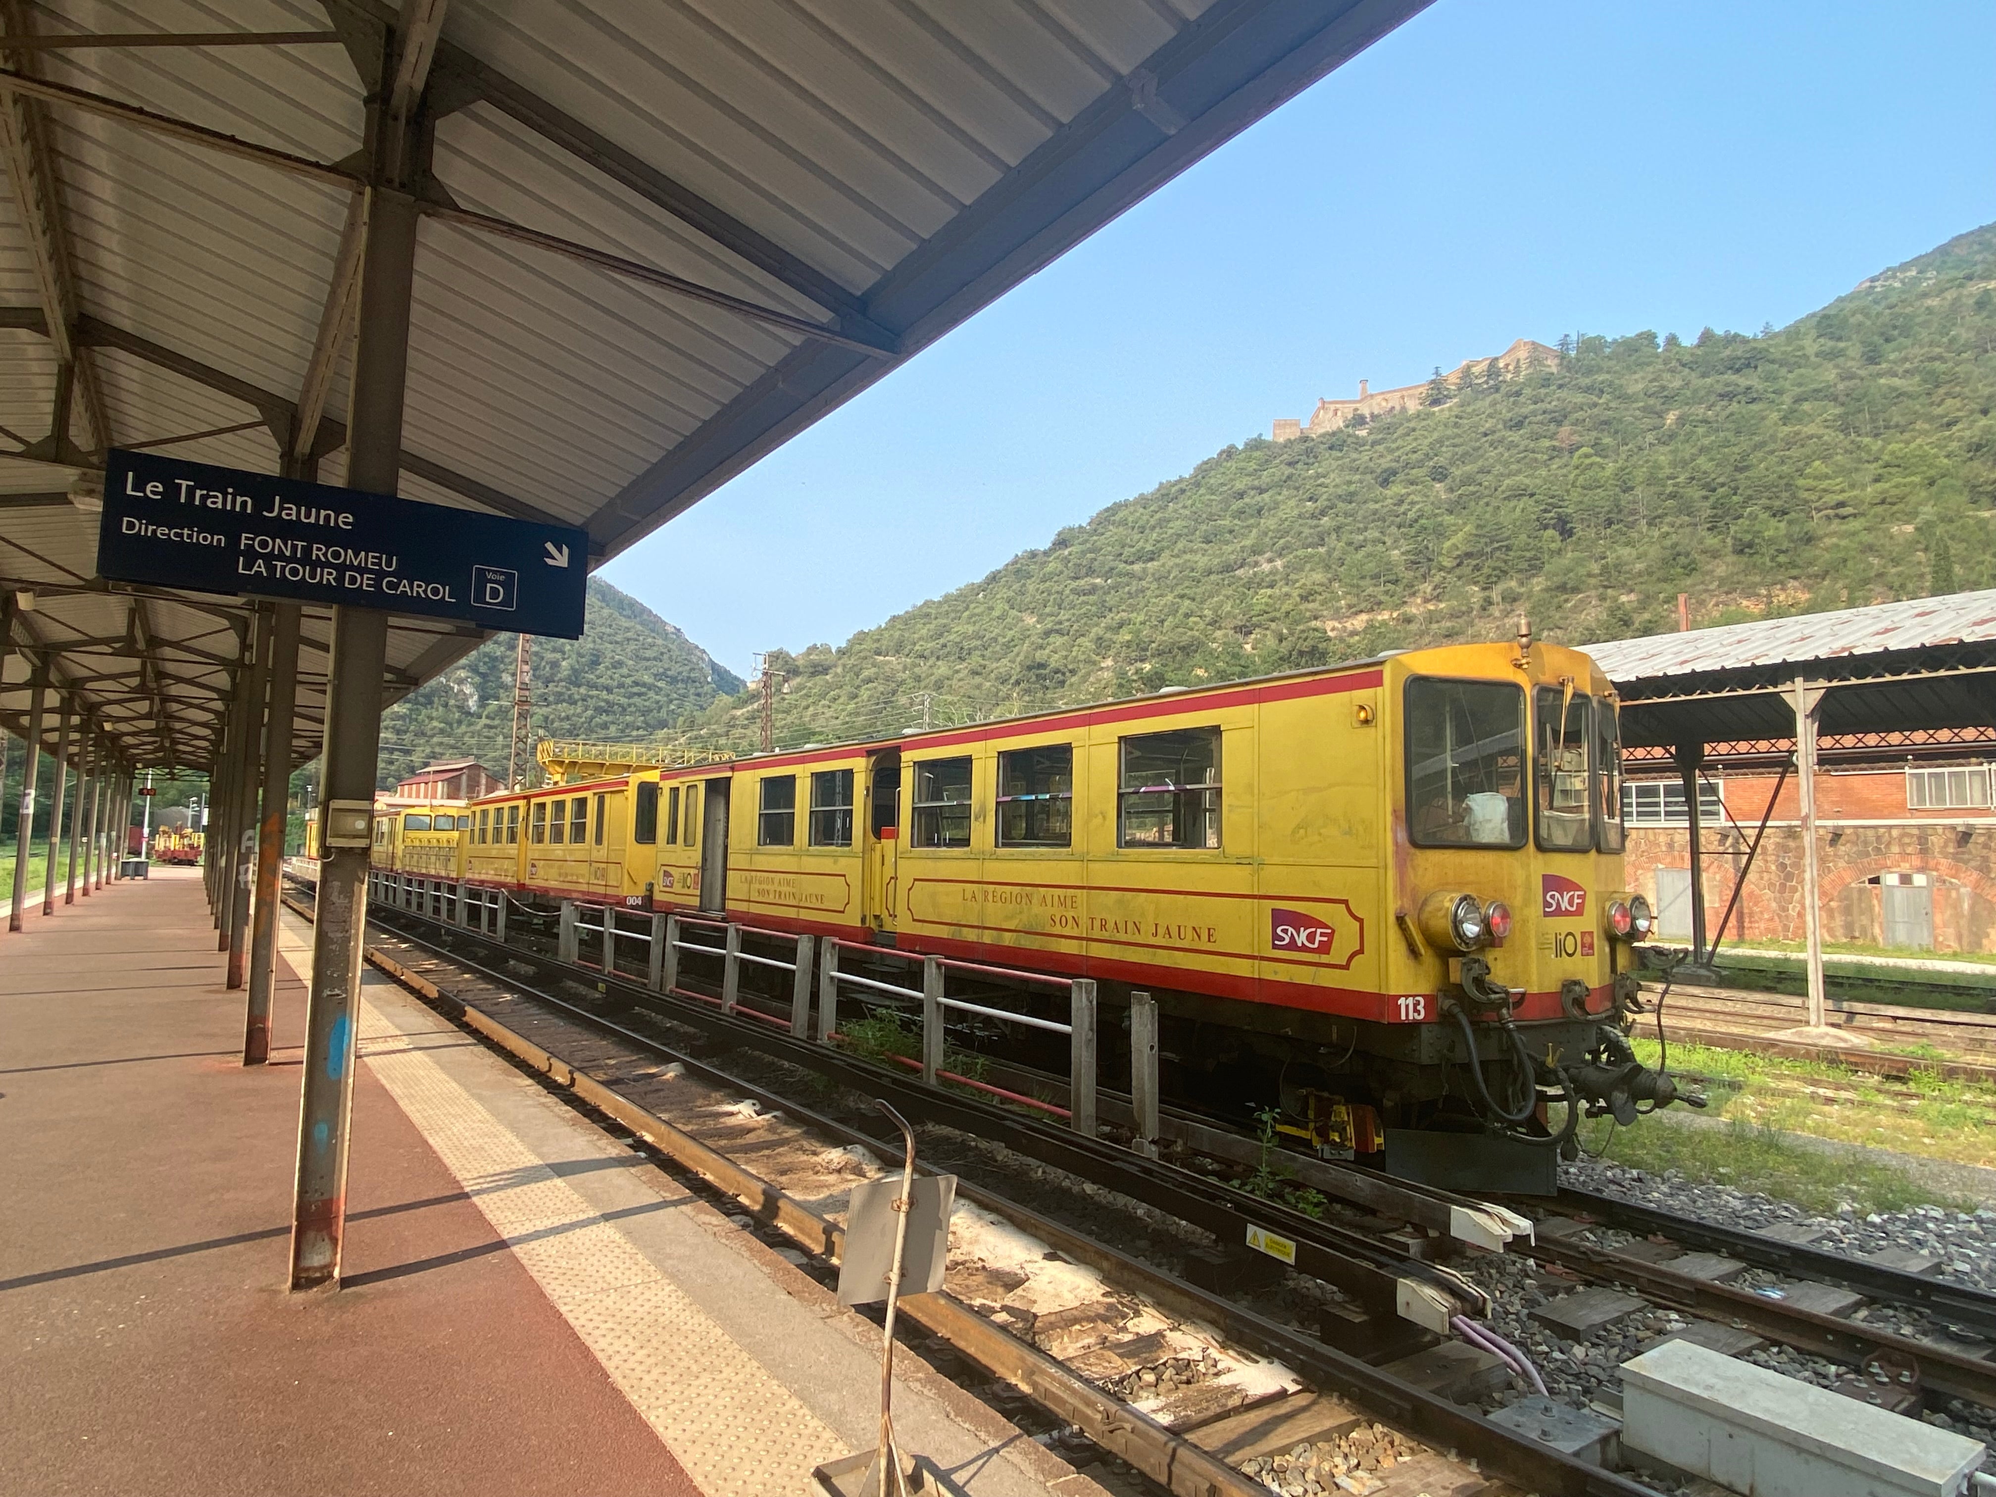
[[[1619,756],[1607,679],[1521,637],[717,764],[575,754],[401,812],[377,864],[1090,976],[1106,1012],[1144,990],[1168,1096],[1459,1154],[1565,1142],[1561,1096],[1675,1096],[1623,1038],[1651,912]]]

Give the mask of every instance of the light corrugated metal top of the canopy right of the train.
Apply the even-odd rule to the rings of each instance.
[[[1587,645],[1617,685],[1996,641],[1996,589]]]

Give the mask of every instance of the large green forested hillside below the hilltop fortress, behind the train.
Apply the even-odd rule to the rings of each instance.
[[[1228,447],[774,665],[778,743],[1389,647],[1621,639],[1996,583],[1996,226],[1758,335],[1561,339],[1371,427]],[[752,693],[703,743],[752,741]]]

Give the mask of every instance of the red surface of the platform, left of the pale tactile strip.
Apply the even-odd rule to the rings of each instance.
[[[693,1493],[365,1064],[283,1289],[303,990],[244,1070],[222,976],[194,870],[0,934],[0,1491]]]

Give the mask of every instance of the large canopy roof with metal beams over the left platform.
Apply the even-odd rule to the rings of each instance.
[[[1423,4],[0,0],[12,643],[130,762],[210,760],[248,613],[98,581],[90,475],[341,481],[369,130],[427,160],[401,493],[603,561]],[[399,619],[387,691],[479,639]]]

